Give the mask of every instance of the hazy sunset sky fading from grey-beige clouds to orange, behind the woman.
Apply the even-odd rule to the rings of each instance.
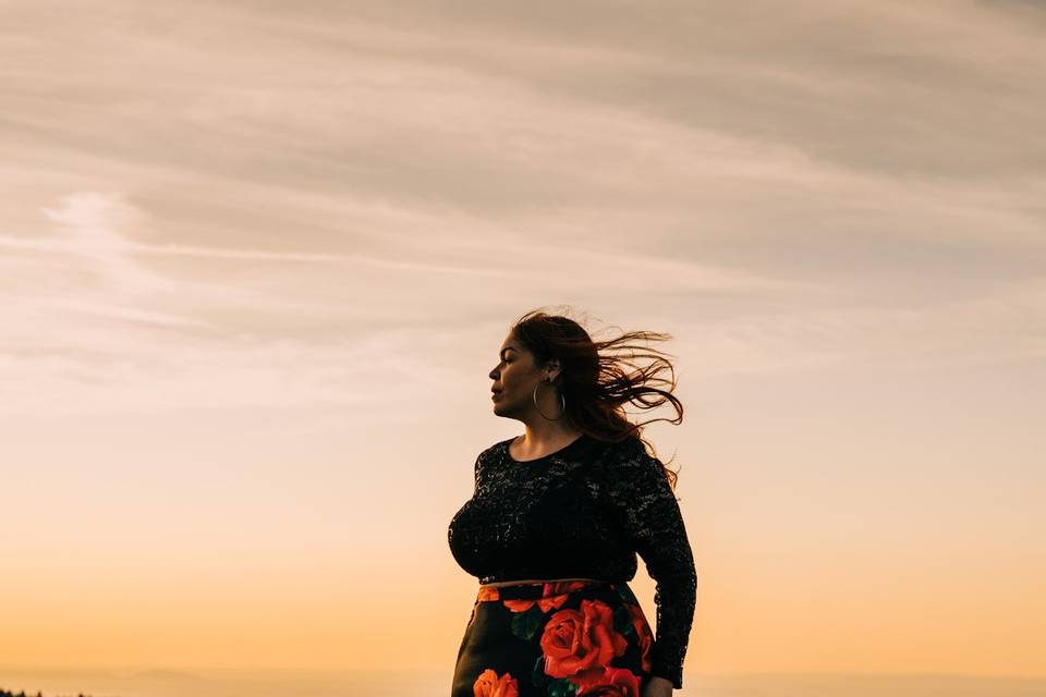
[[[1046,675],[1044,65],[1029,0],[0,2],[0,669],[449,680],[544,308],[672,337],[688,674]]]

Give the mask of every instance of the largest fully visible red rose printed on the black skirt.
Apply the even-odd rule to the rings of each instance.
[[[545,624],[540,647],[552,677],[601,674],[629,644],[613,628],[613,610],[601,600],[582,600],[579,610],[560,610]]]

